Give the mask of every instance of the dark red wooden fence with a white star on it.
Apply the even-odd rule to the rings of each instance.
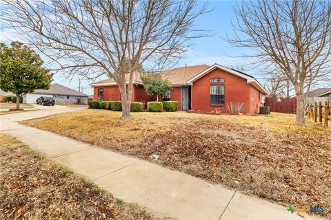
[[[266,97],[264,106],[270,107],[270,111],[281,113],[296,113],[297,98]]]

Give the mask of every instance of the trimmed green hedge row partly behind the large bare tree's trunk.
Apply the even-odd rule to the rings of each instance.
[[[88,101],[88,107],[90,109],[108,109],[112,111],[122,111],[122,102],[121,101],[97,101],[90,100]],[[131,102],[130,111],[139,112],[143,111],[143,103],[141,102]]]

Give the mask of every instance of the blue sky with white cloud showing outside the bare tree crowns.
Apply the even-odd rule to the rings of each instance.
[[[204,1],[199,1],[199,4],[203,5]],[[240,3],[239,1],[210,1],[209,7],[213,8],[212,12],[208,14],[203,14],[199,17],[194,25],[197,30],[208,30],[213,36],[194,39],[194,48],[186,54],[186,58],[179,61],[177,67],[182,67],[185,65],[212,65],[218,63],[226,67],[244,67],[245,72],[251,74],[257,78],[263,85],[264,80],[259,76],[259,73],[249,68],[249,64],[254,62],[252,58],[239,58],[236,56],[241,56],[243,54],[252,53],[250,50],[243,48],[232,47],[229,43],[223,41],[220,36],[233,35],[231,21],[235,21],[233,7]],[[12,40],[19,40],[17,34],[13,34],[10,29],[1,29],[0,33],[1,42],[10,44]],[[45,63],[47,66],[47,63]],[[107,78],[104,76],[101,79]],[[54,76],[54,83],[60,83],[72,89],[78,88],[78,78],[74,80],[66,80],[61,74]],[[92,83],[92,82],[90,82]],[[85,94],[92,94],[92,88],[89,82],[82,81],[81,89]],[[78,90],[78,89],[77,89]]]

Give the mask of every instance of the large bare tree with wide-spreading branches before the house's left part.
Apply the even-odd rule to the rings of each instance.
[[[130,118],[132,81],[141,65],[178,62],[206,12],[194,0],[4,0],[2,20],[52,60],[56,70],[88,79],[104,74],[121,91],[122,119]]]

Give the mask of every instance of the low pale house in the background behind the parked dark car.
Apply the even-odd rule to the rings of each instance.
[[[36,103],[40,96],[53,97],[55,104],[87,104],[88,95],[70,89],[57,83],[50,85],[50,89],[37,89],[31,94],[23,95],[23,103]]]

